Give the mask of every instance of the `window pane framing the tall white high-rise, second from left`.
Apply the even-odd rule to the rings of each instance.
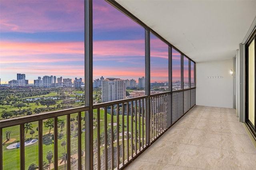
[[[102,0],[93,1],[93,79],[94,103],[145,95],[145,30]]]

